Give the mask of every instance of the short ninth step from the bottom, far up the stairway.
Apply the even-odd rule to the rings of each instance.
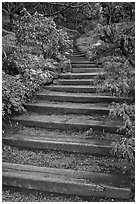
[[[94,72],[103,72],[103,68],[72,68],[72,73],[94,73]]]

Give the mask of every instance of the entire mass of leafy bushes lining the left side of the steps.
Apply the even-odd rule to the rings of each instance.
[[[24,10],[13,31],[3,36],[3,118],[25,111],[35,92],[58,77],[71,45],[66,32],[37,12]]]

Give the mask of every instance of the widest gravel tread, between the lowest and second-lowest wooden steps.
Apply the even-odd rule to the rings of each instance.
[[[3,145],[3,162],[119,174],[126,174],[125,166],[128,165],[128,161],[124,159],[63,151],[32,150],[8,145]]]

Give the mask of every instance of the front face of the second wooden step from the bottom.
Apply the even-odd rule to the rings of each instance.
[[[12,140],[3,139],[3,143],[15,147],[25,147],[41,150],[59,150],[73,153],[85,153],[97,156],[114,156],[111,154],[111,147],[94,146],[94,145],[82,145],[82,144],[67,144],[67,143],[53,143],[53,142],[39,142],[39,141],[24,141],[24,140]]]

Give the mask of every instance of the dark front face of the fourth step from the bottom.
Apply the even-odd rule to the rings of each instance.
[[[64,107],[37,107],[34,105],[26,105],[25,108],[28,111],[42,113],[42,114],[50,114],[50,113],[60,113],[60,114],[85,114],[85,115],[92,115],[92,114],[104,114],[108,115],[109,110],[103,109],[75,109],[75,108],[64,108]]]

